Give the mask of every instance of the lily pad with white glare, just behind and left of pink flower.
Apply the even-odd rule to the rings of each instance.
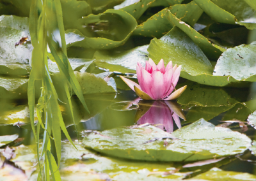
[[[124,52],[113,52],[101,50],[95,52],[95,66],[108,69],[109,71],[118,71],[120,73],[136,73],[137,63],[145,66],[148,61],[148,45],[132,48]]]

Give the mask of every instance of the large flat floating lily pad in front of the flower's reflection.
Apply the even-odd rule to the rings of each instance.
[[[165,144],[164,140],[156,139],[172,136],[179,139],[165,140]],[[127,159],[197,161],[243,153],[250,147],[251,140],[244,134],[215,127],[200,119],[173,134],[153,126],[115,128],[100,134],[90,134],[84,138],[83,144],[97,152]]]

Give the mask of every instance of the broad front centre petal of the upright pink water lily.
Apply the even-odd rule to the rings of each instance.
[[[164,78],[160,71],[153,71],[152,73],[151,93],[155,100],[162,99],[164,96]]]

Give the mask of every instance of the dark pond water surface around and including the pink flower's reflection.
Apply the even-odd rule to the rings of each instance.
[[[118,79],[118,76],[115,78]],[[116,82],[118,82],[118,80]],[[72,117],[68,112],[67,106],[60,102],[60,108],[68,133],[73,140],[77,141],[78,131],[79,142],[83,139],[81,133],[86,130],[104,131],[116,127],[134,126],[134,124],[145,124],[148,122],[164,131],[172,133],[179,129],[179,127],[188,126],[201,117],[204,117],[205,120],[208,120],[208,122],[211,122],[214,126],[228,127],[232,129],[232,131],[246,134],[251,140],[255,140],[255,129],[246,122],[251,111],[241,104],[250,99],[248,95],[253,97],[253,95],[247,91],[248,88],[223,89],[198,85],[183,79],[180,80],[177,87],[181,87],[184,83],[189,85],[188,91],[186,92],[189,96],[187,96],[188,98],[186,99],[181,96],[175,101],[142,101],[129,89],[127,91],[118,89],[115,94],[87,95],[84,96],[84,99],[86,100],[86,105],[88,105],[90,113],[86,112],[79,99],[73,96],[72,106],[74,108],[75,124],[72,122]],[[250,86],[252,89],[253,85]],[[197,90],[198,87],[201,89],[199,92]],[[207,101],[205,101],[205,99],[207,99]],[[1,100],[0,136],[19,134],[19,140],[12,143],[13,146],[22,144],[33,145],[35,143],[31,125],[29,124],[27,104],[26,99]],[[221,104],[224,106],[220,106]],[[176,119],[173,119],[175,115],[177,115]],[[179,118],[179,120],[177,120],[178,115],[182,117]],[[186,119],[186,121],[184,119]],[[42,138],[43,132],[40,136]],[[66,140],[64,134],[62,138],[63,141]],[[223,139],[225,139],[225,137],[223,137]],[[229,156],[227,159],[228,161],[222,163],[220,161],[218,164],[207,164],[209,168],[207,167],[205,169],[209,170],[217,166],[225,171],[255,173],[256,157],[250,150],[246,150],[243,154]],[[129,162],[138,164],[138,161]],[[144,162],[141,161],[141,163]],[[193,168],[191,168],[191,170],[193,172]],[[201,171],[191,173],[191,175],[198,175],[204,171],[205,170],[201,168]]]

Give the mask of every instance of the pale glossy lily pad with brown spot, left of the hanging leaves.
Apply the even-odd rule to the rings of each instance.
[[[15,46],[21,38],[28,37],[28,18],[2,15],[0,17],[0,74],[28,75],[31,43]]]

